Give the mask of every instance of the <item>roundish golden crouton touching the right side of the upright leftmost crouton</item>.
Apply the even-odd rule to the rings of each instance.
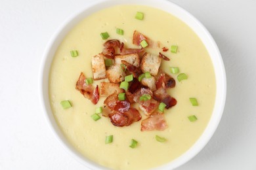
[[[106,76],[110,82],[121,82],[125,79],[125,72],[121,69],[119,64],[112,65],[106,71]]]

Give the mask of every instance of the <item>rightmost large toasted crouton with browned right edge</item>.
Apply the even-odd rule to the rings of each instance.
[[[147,53],[142,57],[140,68],[143,73],[149,72],[150,75],[158,75],[158,69],[161,65],[160,56]]]

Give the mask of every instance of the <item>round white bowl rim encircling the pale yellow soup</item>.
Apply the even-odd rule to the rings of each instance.
[[[211,119],[209,120],[209,124],[203,131],[203,134],[200,138],[196,141],[196,143],[187,150],[182,156],[177,158],[176,160],[171,161],[157,169],[175,169],[180,165],[186,163],[186,161],[192,159],[200,150],[203,149],[205,144],[211,139],[213,133],[217,129],[219,122],[221,120],[221,116],[223,114],[224,103],[226,99],[226,73],[224,70],[223,59],[221,58],[221,54],[219,49],[211,37],[210,33],[205,29],[205,27],[196,19],[194,16],[186,12],[186,10],[182,9],[181,7],[171,3],[170,1],[165,0],[102,0],[102,1],[95,1],[85,7],[85,9],[81,10],[74,16],[70,17],[64,24],[56,31],[53,35],[53,38],[49,42],[47,49],[45,50],[45,54],[43,56],[43,61],[41,65],[41,75],[39,80],[39,88],[40,88],[40,98],[41,103],[43,106],[43,110],[47,117],[47,121],[53,130],[53,133],[56,135],[56,138],[60,143],[68,150],[68,152],[74,156],[77,160],[81,161],[85,166],[89,167],[90,169],[106,169],[93,161],[82,156],[77,150],[74,149],[73,146],[68,143],[62,132],[60,131],[56,121],[54,120],[53,113],[51,111],[51,106],[49,103],[49,91],[48,91],[48,84],[49,84],[49,71],[51,67],[51,62],[54,57],[54,53],[58,48],[60,42],[66,34],[76,25],[78,22],[86,18],[90,14],[98,10],[105,9],[107,7],[112,7],[115,5],[147,5],[150,7],[154,7],[156,9],[164,10],[165,12],[169,12],[173,14],[184,23],[190,26],[191,29],[200,37],[203,44],[207,48],[209,55],[211,57],[211,61],[213,63],[214,71],[215,71],[215,78],[216,78],[216,99],[215,99],[215,106],[213,109],[213,113]]]

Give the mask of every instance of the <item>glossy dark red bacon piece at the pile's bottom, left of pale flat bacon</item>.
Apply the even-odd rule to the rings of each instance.
[[[130,108],[126,112],[115,112],[114,114],[110,114],[110,121],[114,126],[129,126],[133,122],[137,122],[141,119],[140,113],[137,109]]]

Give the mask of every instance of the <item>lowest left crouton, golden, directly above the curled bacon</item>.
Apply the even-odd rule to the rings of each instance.
[[[124,90],[119,88],[119,84],[112,82],[100,82],[100,95],[111,95],[112,93],[123,93]]]

